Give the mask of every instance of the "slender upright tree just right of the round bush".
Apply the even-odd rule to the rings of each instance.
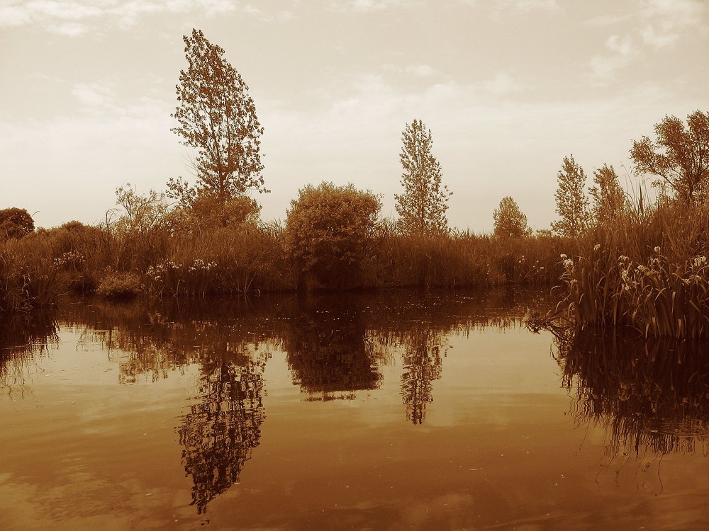
[[[396,212],[405,234],[430,236],[448,232],[448,198],[452,193],[442,185],[440,162],[431,154],[431,132],[421,120],[406,124],[401,139],[401,185],[404,192],[395,194]]]

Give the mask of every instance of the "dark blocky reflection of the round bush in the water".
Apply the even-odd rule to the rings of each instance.
[[[301,313],[286,328],[284,350],[293,381],[311,400],[354,399],[356,391],[379,387],[374,345],[357,300],[301,301]],[[318,393],[320,398],[313,396]]]

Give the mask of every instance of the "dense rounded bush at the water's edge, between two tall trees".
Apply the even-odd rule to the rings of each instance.
[[[369,254],[380,208],[376,195],[352,184],[307,185],[287,212],[286,251],[301,273],[315,275],[323,285],[352,284]]]

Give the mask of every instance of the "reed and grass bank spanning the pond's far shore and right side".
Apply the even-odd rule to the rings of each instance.
[[[708,235],[709,205],[672,200],[621,212],[576,239],[406,236],[381,224],[355,266],[304,270],[284,251],[277,224],[194,234],[69,222],[0,244],[0,314],[37,312],[65,292],[119,299],[511,284],[559,286],[557,311],[542,324],[701,339],[709,336]]]

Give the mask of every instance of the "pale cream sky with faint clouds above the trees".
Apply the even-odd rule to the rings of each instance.
[[[265,220],[322,181],[396,217],[418,119],[452,227],[491,231],[510,195],[548,229],[564,156],[588,176],[612,164],[634,193],[632,140],[709,110],[704,0],[0,0],[0,209],[94,224],[124,183],[194,182],[170,131],[192,28],[255,101]]]

